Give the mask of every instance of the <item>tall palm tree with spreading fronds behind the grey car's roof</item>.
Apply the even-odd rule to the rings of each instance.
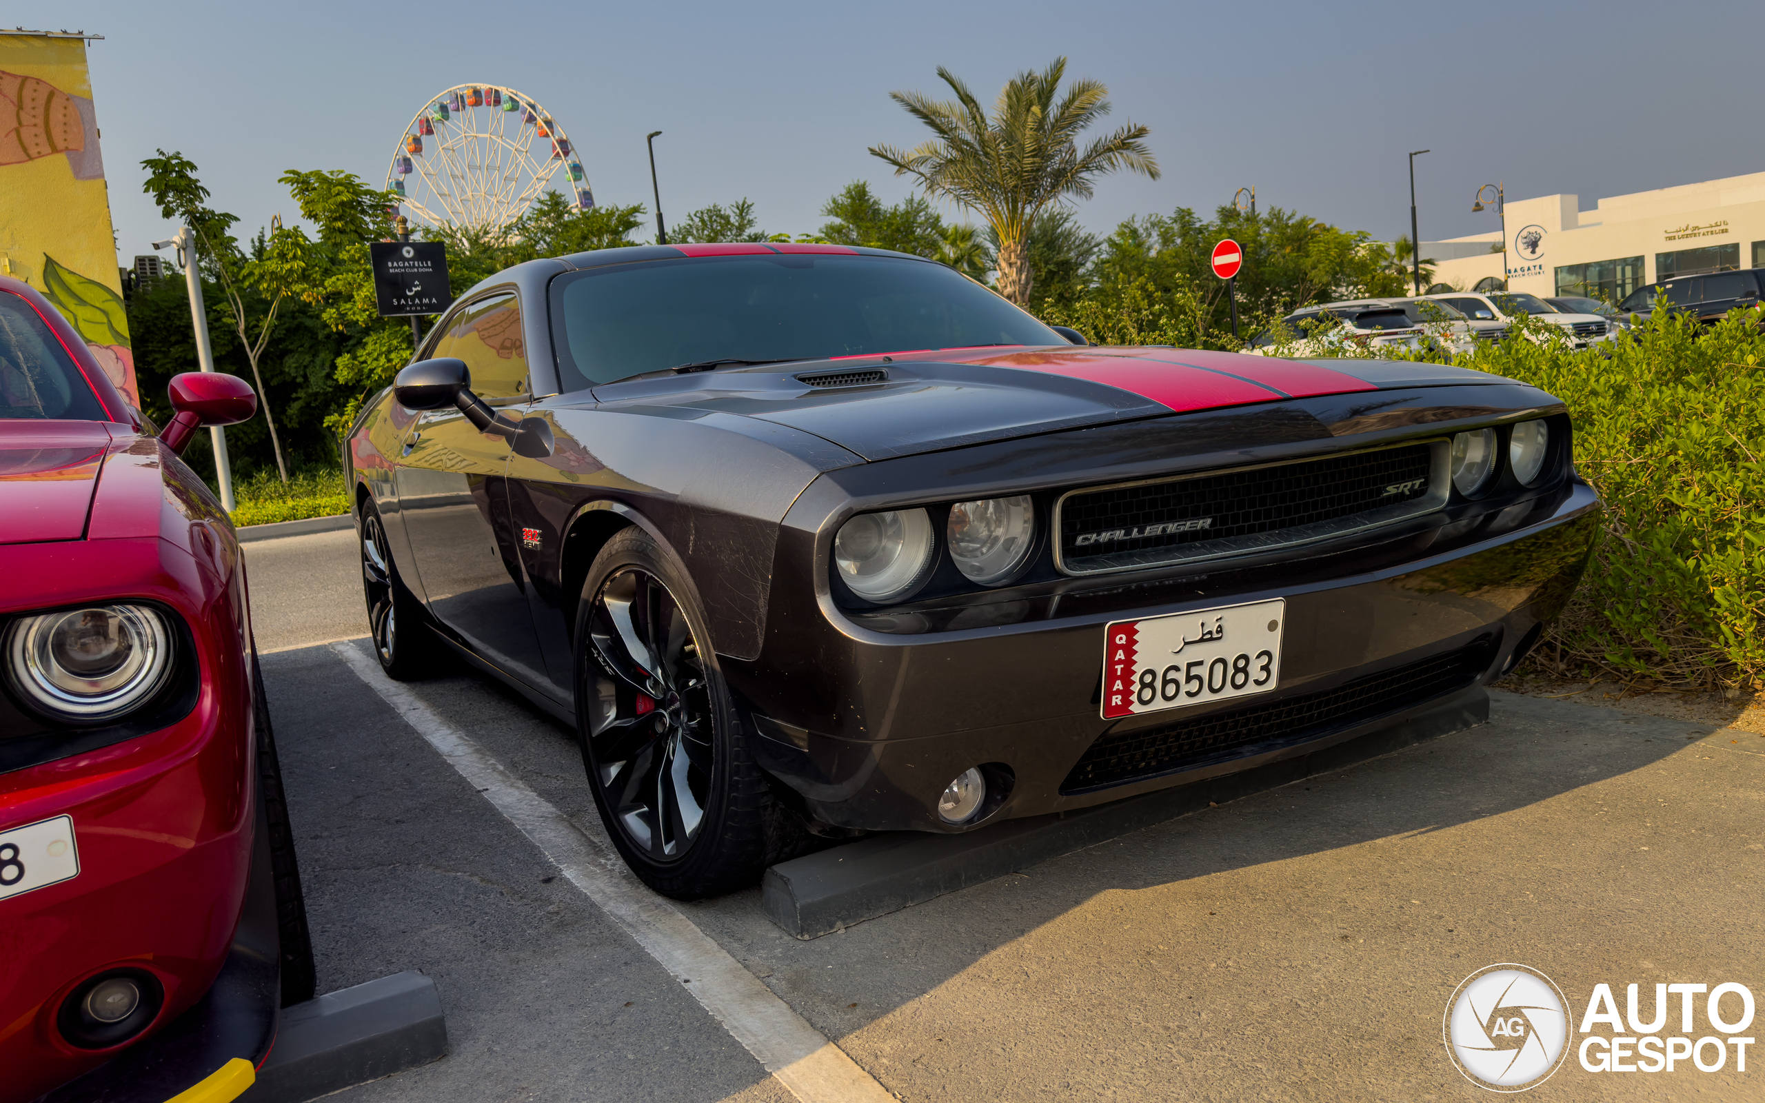
[[[1066,58],[1011,78],[992,118],[953,72],[939,65],[937,76],[957,94],[955,101],[890,92],[935,138],[911,150],[877,145],[870,152],[893,164],[897,176],[914,176],[928,194],[980,212],[999,240],[999,293],[1027,307],[1029,233],[1036,215],[1059,199],[1089,199],[1096,178],[1115,169],[1158,180],[1158,161],[1142,141],[1151,131],[1130,124],[1080,150],[1080,132],[1108,115],[1108,88],[1100,81],[1073,81],[1055,102]]]

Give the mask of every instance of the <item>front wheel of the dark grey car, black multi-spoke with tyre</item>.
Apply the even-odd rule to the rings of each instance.
[[[757,881],[782,812],[692,593],[630,528],[595,558],[577,612],[577,732],[595,803],[627,865],[681,900]]]

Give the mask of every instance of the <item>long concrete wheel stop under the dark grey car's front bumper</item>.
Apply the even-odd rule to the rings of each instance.
[[[1013,870],[1071,854],[1153,824],[1276,789],[1412,743],[1476,727],[1490,718],[1477,688],[1308,755],[1161,789],[1077,812],[1010,819],[967,835],[891,831],[780,861],[766,870],[761,905],[798,939],[817,939],[852,923],[925,904]]]

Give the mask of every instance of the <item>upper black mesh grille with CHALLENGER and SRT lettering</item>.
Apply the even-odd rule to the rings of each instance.
[[[1061,568],[1101,574],[1267,551],[1426,512],[1446,498],[1442,446],[1073,491],[1055,506]]]

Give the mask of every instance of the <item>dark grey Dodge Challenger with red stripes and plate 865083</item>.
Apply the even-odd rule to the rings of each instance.
[[[1077,346],[881,249],[535,259],[417,356],[346,445],[379,664],[574,724],[672,897],[1470,706],[1599,529],[1534,386]]]

